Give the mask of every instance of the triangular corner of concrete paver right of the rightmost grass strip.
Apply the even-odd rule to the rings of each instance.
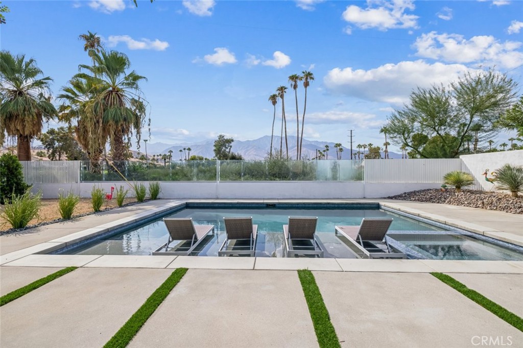
[[[523,274],[448,274],[498,305],[523,317],[523,301],[521,301]]]

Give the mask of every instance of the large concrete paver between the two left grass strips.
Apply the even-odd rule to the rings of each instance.
[[[77,269],[0,307],[0,346],[101,347],[170,273]]]

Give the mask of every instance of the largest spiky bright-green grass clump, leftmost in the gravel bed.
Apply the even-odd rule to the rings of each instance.
[[[4,206],[0,216],[13,228],[26,227],[33,218],[40,218],[38,211],[42,205],[42,192],[32,194],[29,189],[24,194],[14,195]]]

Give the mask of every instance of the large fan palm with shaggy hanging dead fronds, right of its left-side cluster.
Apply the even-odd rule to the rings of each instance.
[[[127,55],[101,50],[94,54],[94,66],[80,65],[94,76],[79,73],[79,78],[95,78],[103,91],[94,97],[93,113],[101,117],[102,124],[110,134],[112,156],[115,161],[127,159],[127,148],[134,131],[138,144],[145,120],[145,104],[139,82],[146,80],[134,71],[127,73],[131,62]],[[127,138],[127,144],[124,143]]]

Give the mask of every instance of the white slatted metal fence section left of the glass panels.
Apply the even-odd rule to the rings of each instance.
[[[80,161],[21,161],[24,180],[33,183],[77,183]]]

